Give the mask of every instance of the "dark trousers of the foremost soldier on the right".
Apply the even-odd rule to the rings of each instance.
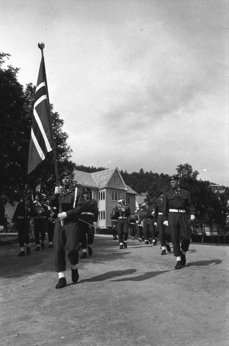
[[[173,253],[177,257],[181,255],[181,249],[187,252],[190,245],[191,230],[188,224],[188,216],[186,213],[169,212],[168,222]]]

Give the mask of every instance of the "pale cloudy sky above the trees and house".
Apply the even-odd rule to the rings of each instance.
[[[222,0],[2,0],[0,50],[49,99],[77,165],[229,186],[229,6]]]

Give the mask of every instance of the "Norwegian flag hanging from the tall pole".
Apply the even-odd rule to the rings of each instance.
[[[33,108],[28,174],[46,158],[47,153],[53,148],[52,120],[47,101],[44,66],[41,59]]]

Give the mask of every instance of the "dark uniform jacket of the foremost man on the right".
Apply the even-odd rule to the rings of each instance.
[[[190,194],[186,190],[180,189],[178,195],[175,190],[165,192],[162,205],[162,219],[168,220],[169,209],[185,209],[190,215],[195,215],[196,208],[193,206]]]

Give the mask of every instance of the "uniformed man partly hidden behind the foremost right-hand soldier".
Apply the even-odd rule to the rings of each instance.
[[[165,190],[161,189],[159,191],[159,196],[160,198],[155,201],[154,204],[154,225],[157,226],[157,229],[160,234],[160,240],[161,240],[161,255],[166,254],[166,248],[168,252],[171,252],[171,248],[169,246],[170,243],[170,235],[168,232],[168,227],[163,224],[162,221],[162,203],[163,203],[163,198],[164,198],[164,193]]]

